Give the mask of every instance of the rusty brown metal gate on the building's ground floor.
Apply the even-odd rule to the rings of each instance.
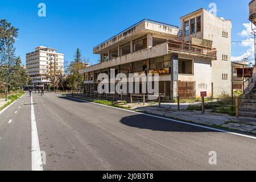
[[[179,96],[180,98],[195,98],[196,82],[195,81],[178,81],[177,96]]]

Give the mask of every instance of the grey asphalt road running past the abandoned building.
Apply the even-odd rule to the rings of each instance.
[[[53,93],[32,99],[26,94],[0,114],[0,170],[35,169],[36,141],[43,170],[256,169],[253,138]],[[210,151],[217,164],[209,164]]]

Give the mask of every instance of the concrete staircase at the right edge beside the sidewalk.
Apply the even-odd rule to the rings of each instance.
[[[256,118],[256,86],[245,96],[243,104],[240,106],[239,115],[243,117]]]

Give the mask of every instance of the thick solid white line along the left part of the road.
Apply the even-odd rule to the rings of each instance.
[[[31,94],[31,167],[32,171],[43,171],[42,156],[40,151],[38,129],[36,128],[35,110]]]

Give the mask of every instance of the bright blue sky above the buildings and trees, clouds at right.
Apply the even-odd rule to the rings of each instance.
[[[47,46],[64,53],[72,61],[77,48],[82,57],[97,63],[93,47],[144,18],[180,27],[180,17],[201,7],[217,7],[217,16],[232,20],[232,60],[254,59],[250,34],[250,0],[0,0],[0,19],[19,28],[15,42],[16,55],[25,63],[26,53]],[[39,3],[46,5],[46,16],[40,17]]]

